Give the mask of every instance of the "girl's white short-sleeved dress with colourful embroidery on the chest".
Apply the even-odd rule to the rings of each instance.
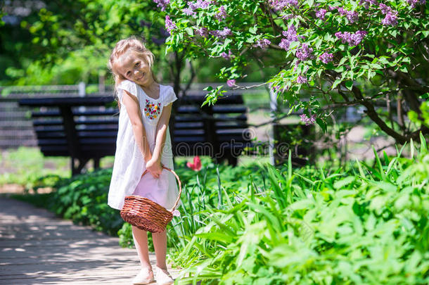
[[[153,178],[150,173],[146,173],[141,177],[146,170],[146,162],[136,144],[132,124],[129,120],[127,109],[122,102],[123,90],[128,91],[129,94],[136,96],[139,100],[143,125],[146,129],[146,137],[151,152],[155,148],[156,127],[162,109],[177,100],[174,90],[167,85],[160,84],[160,97],[158,99],[152,99],[138,84],[129,80],[122,81],[117,87],[121,108],[108,205],[121,210],[125,196],[139,195],[149,198],[170,210],[179,194],[176,177],[167,170],[162,170],[158,179]],[[165,146],[162,149],[161,163],[173,170],[172,142],[168,128]]]

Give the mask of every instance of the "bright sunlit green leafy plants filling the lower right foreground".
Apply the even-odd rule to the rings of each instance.
[[[198,212],[195,232],[182,231],[172,260],[191,277],[179,283],[427,284],[429,156],[423,136],[410,148],[411,160],[402,148],[375,153],[376,167],[332,172],[293,172],[289,160],[238,201],[224,191],[221,207]]]

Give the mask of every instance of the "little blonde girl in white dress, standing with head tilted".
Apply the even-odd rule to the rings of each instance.
[[[108,205],[121,210],[125,196],[139,195],[172,208],[179,193],[176,178],[164,170],[173,169],[168,121],[172,102],[177,97],[172,87],[155,82],[152,73],[154,56],[136,37],[122,39],[113,49],[108,66],[115,79],[120,106],[115,163],[108,195]],[[141,177],[143,172],[148,174]],[[148,255],[148,234],[132,227],[141,271],[133,284],[154,281]],[[153,233],[158,284],[174,283],[167,272],[165,255],[167,233]]]

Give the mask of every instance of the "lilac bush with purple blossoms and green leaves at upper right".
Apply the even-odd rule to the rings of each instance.
[[[276,68],[267,84],[277,96],[312,110],[308,122],[325,130],[326,110],[361,105],[399,143],[429,134],[421,109],[429,92],[425,0],[155,2],[168,17],[167,49],[225,58],[218,77],[231,88],[259,62]],[[206,103],[215,103],[222,88],[208,89]]]

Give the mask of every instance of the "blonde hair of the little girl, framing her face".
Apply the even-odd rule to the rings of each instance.
[[[153,80],[155,82],[157,81],[155,79],[155,76],[153,75],[153,63],[155,61],[155,56],[153,55],[152,51],[148,50],[146,46],[143,44],[143,41],[141,39],[138,39],[135,36],[129,37],[127,39],[121,39],[115,47],[113,48],[112,53],[110,53],[110,58],[108,62],[108,68],[110,72],[112,72],[113,80],[115,80],[115,91],[117,90],[117,86],[123,81],[126,80],[122,74],[117,70],[117,62],[118,58],[122,56],[122,54],[126,53],[128,50],[131,50],[136,54],[136,56],[139,56],[140,58],[144,58],[149,67],[151,68],[151,74],[153,77]],[[118,101],[119,106],[119,101]]]

